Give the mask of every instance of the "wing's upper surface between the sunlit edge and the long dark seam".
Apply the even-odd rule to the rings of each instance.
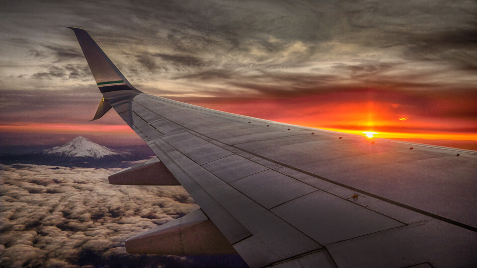
[[[153,104],[159,101],[160,104]],[[138,113],[158,116],[160,113],[164,121],[176,124],[182,131],[308,174],[316,178],[314,181],[348,186],[362,194],[442,216],[476,230],[477,209],[466,209],[476,208],[477,203],[475,151],[370,140],[207,110],[148,95],[136,98],[134,103],[138,106],[133,110],[137,109]],[[152,108],[145,108],[148,105]],[[194,143],[196,140],[192,142],[203,146],[197,151],[206,147]],[[187,153],[193,156],[193,152],[189,149]],[[464,207],[459,207],[463,204]]]

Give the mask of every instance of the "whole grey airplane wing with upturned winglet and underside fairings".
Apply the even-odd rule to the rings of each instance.
[[[477,267],[477,152],[282,124],[134,88],[71,28],[111,107],[158,158],[110,183],[182,185],[200,209],[130,253],[229,254],[250,267]]]

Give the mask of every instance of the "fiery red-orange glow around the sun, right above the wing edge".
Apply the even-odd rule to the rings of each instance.
[[[370,89],[270,99],[174,99],[297,126],[358,135],[375,132],[377,138],[477,141],[474,96]]]

